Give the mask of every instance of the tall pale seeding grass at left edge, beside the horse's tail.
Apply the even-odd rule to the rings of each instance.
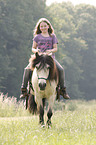
[[[0,117],[28,116],[24,108],[24,102],[18,101],[15,97],[8,97],[0,93]]]

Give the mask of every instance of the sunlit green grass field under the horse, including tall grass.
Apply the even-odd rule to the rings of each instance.
[[[41,128],[23,102],[1,94],[0,145],[96,145],[96,100],[56,102],[48,129]]]

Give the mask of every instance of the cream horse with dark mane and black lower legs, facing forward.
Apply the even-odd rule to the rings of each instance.
[[[56,99],[58,85],[58,71],[54,59],[48,54],[36,53],[30,58],[33,71],[31,83],[32,89],[28,100],[28,109],[31,113],[39,113],[39,123],[44,125],[44,106],[48,102],[47,125],[51,126],[52,109]]]

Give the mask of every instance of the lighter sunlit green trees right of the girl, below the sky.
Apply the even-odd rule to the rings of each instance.
[[[73,98],[96,98],[96,8],[90,5],[53,4],[47,9],[59,40],[57,59],[65,68]]]

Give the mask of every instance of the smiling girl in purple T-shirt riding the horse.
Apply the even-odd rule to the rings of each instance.
[[[56,35],[54,34],[54,29],[51,23],[46,18],[41,18],[36,27],[34,29],[34,38],[33,38],[33,46],[32,52],[42,52],[42,53],[52,53],[52,57],[55,60],[58,72],[59,72],[59,85],[60,85],[60,95],[65,99],[69,99],[70,97],[66,93],[65,80],[64,80],[64,69],[59,64],[59,62],[55,59],[55,52],[57,51],[58,40]],[[28,65],[24,70],[23,82],[21,86],[21,96],[23,98],[27,95],[27,84],[30,80],[32,72],[30,70],[30,66]]]

